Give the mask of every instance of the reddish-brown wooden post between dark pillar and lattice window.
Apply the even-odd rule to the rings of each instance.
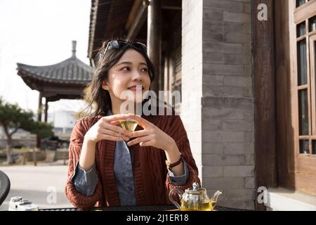
[[[278,185],[284,188],[295,189],[298,181],[296,174],[296,131],[298,129],[298,115],[294,112],[296,105],[293,98],[297,98],[297,88],[292,73],[294,68],[293,60],[296,59],[296,48],[292,48],[291,43],[294,39],[296,43],[294,24],[291,18],[294,11],[294,1],[275,1],[275,79],[277,96],[277,171]],[[284,10],[291,8],[291,10]],[[293,33],[294,32],[294,33]],[[282,43],[282,44],[281,44]],[[292,105],[294,104],[294,105]],[[298,112],[298,110],[297,110]],[[296,140],[295,140],[296,139]],[[296,176],[297,175],[297,176]],[[310,182],[312,182],[310,180]]]

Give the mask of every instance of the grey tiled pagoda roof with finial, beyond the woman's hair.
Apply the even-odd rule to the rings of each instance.
[[[72,41],[72,57],[60,63],[45,66],[17,63],[18,75],[48,101],[82,98],[86,84],[93,77],[93,68],[77,58],[76,44]]]

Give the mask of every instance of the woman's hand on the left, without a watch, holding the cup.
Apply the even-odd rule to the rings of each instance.
[[[84,139],[92,143],[97,143],[101,140],[129,141],[129,136],[131,136],[132,133],[117,126],[119,120],[126,120],[128,117],[128,114],[116,114],[102,117],[86,132]]]

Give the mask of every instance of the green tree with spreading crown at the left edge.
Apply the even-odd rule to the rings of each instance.
[[[34,120],[34,113],[30,110],[23,110],[17,104],[4,101],[0,96],[0,126],[6,134],[6,157],[8,163],[12,163],[11,148],[12,136],[18,129],[24,129],[32,134],[37,134],[41,138],[53,135],[53,125],[46,122]]]

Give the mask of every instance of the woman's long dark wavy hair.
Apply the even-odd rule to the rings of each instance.
[[[103,41],[100,49],[96,50],[98,51],[96,54],[96,61],[98,63],[96,65],[92,81],[86,86],[86,89],[84,89],[84,99],[88,105],[83,111],[81,111],[81,113],[85,112],[85,115],[88,114],[91,115],[91,117],[97,115],[106,115],[107,110],[111,109],[110,93],[109,91],[102,88],[102,83],[103,80],[107,80],[110,68],[112,68],[119,61],[126,50],[134,49],[135,51],[138,51],[138,53],[140,53],[146,60],[150,82],[152,82],[155,77],[154,65],[150,61],[150,58],[148,58],[147,53],[133,46],[133,41],[126,40],[127,44],[121,46],[121,48],[116,49],[112,47],[108,48],[105,52],[107,44],[110,41],[111,40]],[[88,109],[88,112],[86,112],[86,109]]]

